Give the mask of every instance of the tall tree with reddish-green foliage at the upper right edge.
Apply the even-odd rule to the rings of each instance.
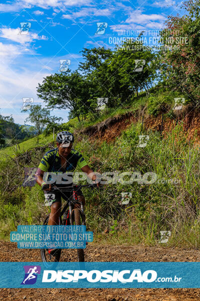
[[[200,105],[200,1],[183,3],[182,17],[169,16],[162,31],[160,52],[162,75],[168,86],[183,92],[194,105]]]

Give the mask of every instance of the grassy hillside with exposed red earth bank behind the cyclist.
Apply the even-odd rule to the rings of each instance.
[[[74,148],[94,171],[156,174],[152,184],[136,179],[107,184],[100,192],[84,191],[87,227],[95,242],[156,245],[163,230],[171,232],[169,246],[199,246],[199,113],[183,106],[171,116],[170,110],[149,114],[148,98],[141,93],[125,108],[107,110],[81,125],[75,118],[64,125],[74,132]],[[145,147],[138,147],[141,134],[149,136]],[[0,152],[1,239],[8,240],[18,224],[41,224],[48,211],[38,185],[22,186],[27,168],[34,170],[54,147],[52,134],[41,135],[39,142],[32,138],[16,150]],[[124,192],[132,194],[128,205],[120,204]]]

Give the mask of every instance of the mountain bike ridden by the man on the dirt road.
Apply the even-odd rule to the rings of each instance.
[[[83,205],[81,202],[78,201],[76,192],[77,190],[81,188],[95,188],[97,187],[96,184],[88,184],[88,185],[76,185],[72,184],[68,187],[56,187],[53,186],[51,188],[51,192],[71,192],[70,199],[67,201],[67,203],[64,205],[63,209],[60,212],[59,215],[59,224],[58,225],[84,225],[85,224],[85,215],[83,210]],[[78,208],[74,208],[75,204],[78,204]],[[67,209],[69,207],[69,209]],[[43,225],[48,224],[48,214],[43,222]],[[61,249],[57,249],[56,252],[53,255],[50,255],[48,253],[48,249],[40,249],[40,255],[43,262],[58,262],[60,259]],[[84,262],[84,249],[77,249],[77,257],[79,262]]]

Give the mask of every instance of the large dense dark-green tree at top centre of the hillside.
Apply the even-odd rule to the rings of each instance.
[[[85,61],[80,63],[79,69],[95,84],[98,97],[108,98],[108,107],[125,103],[139,88],[148,93],[156,77],[154,54],[142,48],[132,50],[132,46],[138,46],[136,41],[122,46],[114,51],[104,47],[84,48],[82,51]],[[134,71],[135,60],[145,61],[141,72]]]

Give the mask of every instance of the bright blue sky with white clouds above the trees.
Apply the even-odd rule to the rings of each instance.
[[[0,1],[0,114],[12,114],[16,123],[24,124],[22,97],[44,105],[36,87],[43,77],[59,72],[59,60],[70,60],[69,69],[75,70],[83,47],[112,48],[109,41],[119,31],[128,35],[130,30],[159,30],[168,15],[181,15],[180,5],[175,0]],[[19,34],[21,22],[31,24],[25,35]],[[107,23],[103,35],[95,34],[97,22]],[[67,110],[52,114],[68,120]]]

